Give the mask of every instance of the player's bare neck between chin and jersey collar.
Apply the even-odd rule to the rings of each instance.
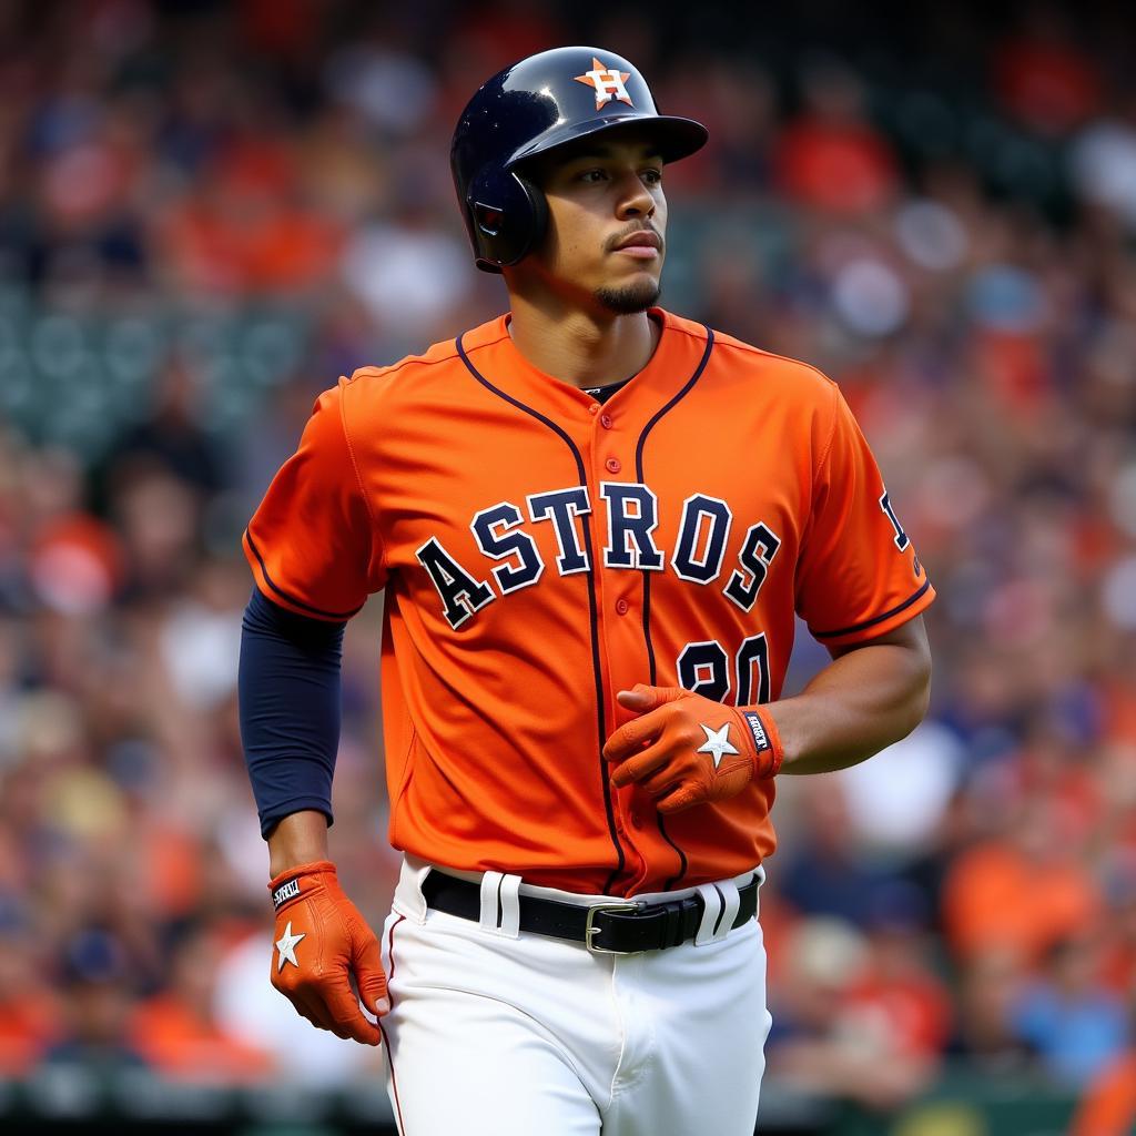
[[[601,386],[637,375],[654,353],[659,325],[633,316],[550,311],[513,294],[509,334],[537,369],[573,386]]]

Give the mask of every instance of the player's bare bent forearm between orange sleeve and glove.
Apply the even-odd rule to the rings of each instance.
[[[922,720],[929,690],[921,619],[849,651],[801,694],[767,708],[785,747],[780,772],[828,772],[870,758]]]

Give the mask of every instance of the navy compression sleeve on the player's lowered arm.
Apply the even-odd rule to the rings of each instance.
[[[259,590],[241,623],[241,741],[267,837],[300,809],[332,822],[345,624],[295,616]]]

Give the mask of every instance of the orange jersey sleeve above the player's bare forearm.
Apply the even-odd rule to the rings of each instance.
[[[826,646],[883,635],[935,598],[876,459],[840,390],[813,484],[796,610]]]

